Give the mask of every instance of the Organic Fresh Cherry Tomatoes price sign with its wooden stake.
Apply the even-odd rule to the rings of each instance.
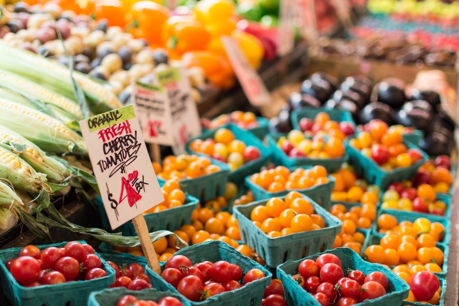
[[[132,220],[148,266],[161,273],[143,212],[164,201],[132,105],[81,120],[112,229]]]

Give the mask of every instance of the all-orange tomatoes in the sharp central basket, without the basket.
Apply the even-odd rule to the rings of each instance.
[[[284,200],[274,197],[265,205],[254,207],[250,219],[271,238],[325,228],[326,225],[311,202],[298,191],[289,192]]]

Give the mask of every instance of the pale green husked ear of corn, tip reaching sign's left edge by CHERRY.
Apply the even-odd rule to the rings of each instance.
[[[9,100],[0,99],[0,109],[0,122],[3,126],[22,135],[42,150],[87,155],[83,138],[62,122]]]

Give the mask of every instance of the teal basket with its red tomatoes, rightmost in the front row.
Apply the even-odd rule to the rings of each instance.
[[[336,248],[277,267],[288,305],[400,305],[409,285],[350,248]]]

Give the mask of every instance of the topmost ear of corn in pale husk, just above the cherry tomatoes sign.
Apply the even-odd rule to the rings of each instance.
[[[0,40],[0,54],[3,57],[2,69],[22,75],[40,85],[75,100],[70,71],[67,67],[45,59],[31,52],[21,50]],[[101,113],[123,104],[101,83],[95,82],[87,75],[74,71],[74,80],[84,91],[91,111]]]

